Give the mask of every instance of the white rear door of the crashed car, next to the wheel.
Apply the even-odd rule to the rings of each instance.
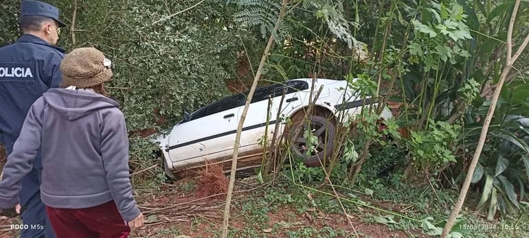
[[[240,152],[261,150],[262,139],[264,139],[265,134],[267,135],[267,145],[269,145],[273,139],[275,123],[302,105],[298,91],[306,88],[308,88],[308,84],[302,80],[291,80],[258,88],[251,100],[247,117],[243,124],[243,131],[240,136]],[[283,91],[286,92],[285,97],[282,99]],[[267,128],[269,97],[271,97],[271,109],[269,110]],[[281,101],[283,103],[280,108]],[[241,108],[239,114],[242,114],[242,111]],[[280,112],[279,117],[278,111]]]

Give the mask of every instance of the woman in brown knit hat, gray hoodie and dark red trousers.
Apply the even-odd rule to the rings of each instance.
[[[128,237],[144,218],[129,179],[124,115],[103,86],[111,62],[95,48],[78,48],[60,71],[63,88],[34,102],[3,167],[0,209],[19,204],[21,179],[41,147],[41,198],[57,237]]]

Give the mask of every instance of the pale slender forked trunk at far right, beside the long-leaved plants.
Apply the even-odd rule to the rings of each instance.
[[[509,23],[509,29],[507,32],[507,60],[506,65],[504,67],[504,70],[502,71],[502,75],[500,75],[499,82],[497,84],[497,87],[494,91],[493,99],[491,100],[491,107],[488,108],[488,113],[486,115],[485,121],[483,123],[482,132],[480,135],[480,141],[477,143],[476,150],[474,152],[474,156],[472,158],[472,162],[469,167],[469,171],[466,172],[466,178],[463,183],[463,187],[461,188],[458,202],[455,204],[455,207],[452,210],[452,213],[447,221],[447,224],[442,229],[441,237],[446,238],[448,237],[450,230],[452,230],[452,226],[455,223],[455,218],[458,216],[459,212],[461,211],[461,208],[463,206],[464,200],[466,198],[466,193],[469,191],[470,183],[472,181],[472,177],[474,174],[475,167],[477,165],[477,160],[479,160],[481,152],[483,150],[483,145],[485,144],[486,134],[488,132],[488,126],[491,124],[491,120],[494,115],[494,110],[496,109],[496,104],[498,102],[499,93],[502,91],[502,87],[504,85],[504,82],[509,75],[510,69],[513,68],[513,64],[517,60],[517,58],[520,56],[521,52],[524,51],[524,49],[527,47],[527,44],[529,43],[529,34],[526,36],[524,43],[521,44],[518,51],[515,53],[515,55],[512,55],[513,52],[513,27],[515,25],[515,19],[516,19],[516,13],[518,12],[518,8],[520,5],[521,0],[517,0],[515,3],[515,8],[513,10],[513,14],[510,16],[510,23]]]

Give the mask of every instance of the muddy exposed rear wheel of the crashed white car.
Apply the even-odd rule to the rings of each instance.
[[[313,135],[317,137],[318,145],[315,150],[308,154],[309,147],[304,138],[304,131],[310,128]],[[326,164],[333,154],[333,142],[335,140],[336,127],[326,117],[312,116],[307,120],[294,122],[289,130],[289,149],[295,156],[303,158],[307,167],[317,167]],[[322,163],[320,163],[322,160]]]

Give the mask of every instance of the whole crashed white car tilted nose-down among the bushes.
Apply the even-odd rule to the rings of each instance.
[[[352,92],[345,80],[317,79],[312,97],[315,97],[320,86],[322,91],[315,101],[312,116],[306,117],[312,83],[310,78],[295,79],[256,89],[240,136],[238,170],[260,166],[265,137],[267,146],[272,141],[284,143],[290,140],[291,152],[301,157],[308,166],[320,165],[319,159],[332,154],[337,118],[343,117],[339,115],[350,117],[359,113],[362,100],[357,93]],[[195,112],[185,112],[183,120],[173,126],[169,133],[161,132],[153,136],[152,140],[159,142],[166,174],[174,176],[181,172],[197,171],[207,164],[215,163],[223,163],[223,169],[229,171],[237,127],[247,95],[248,92],[238,93]],[[387,108],[381,115],[383,119],[391,116]],[[284,123],[285,118],[289,118],[291,123]],[[307,153],[304,133],[299,133],[307,126],[319,141],[311,153]],[[293,131],[297,135],[288,133]],[[278,134],[274,136],[275,132]],[[289,136],[282,136],[283,133]]]

